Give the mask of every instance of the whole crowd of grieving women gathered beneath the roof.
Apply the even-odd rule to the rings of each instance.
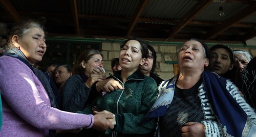
[[[163,80],[155,49],[134,37],[108,77],[95,49],[72,69],[55,66],[57,97],[52,71],[33,66],[47,48],[39,23],[14,24],[3,48],[0,136],[256,135],[255,58],[246,51],[190,39],[178,51],[179,73]]]

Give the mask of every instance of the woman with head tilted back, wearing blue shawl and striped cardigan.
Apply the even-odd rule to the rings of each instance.
[[[209,65],[207,46],[196,39],[182,44],[179,74],[165,80],[146,119],[158,117],[157,136],[251,136],[256,114],[230,80]],[[254,131],[255,132],[255,131]]]

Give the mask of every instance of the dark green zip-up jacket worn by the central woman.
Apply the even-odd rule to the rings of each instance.
[[[113,130],[105,131],[105,134],[110,136],[112,133],[117,133],[117,136],[140,136],[152,132],[155,120],[142,125],[141,122],[158,95],[156,81],[136,71],[123,83],[120,74],[121,71],[118,71],[115,75],[110,74],[108,78],[118,80],[124,87],[123,90],[117,89],[96,98],[93,105],[86,106],[79,113],[92,114],[94,105],[98,106],[99,111],[107,110],[114,113],[117,124]]]

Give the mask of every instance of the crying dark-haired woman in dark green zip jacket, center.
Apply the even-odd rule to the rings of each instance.
[[[119,53],[122,70],[106,80],[98,81],[96,88],[103,91],[102,96],[79,112],[92,114],[92,107],[95,106],[93,108],[97,107],[97,111],[106,109],[116,115],[115,128],[104,131],[101,136],[148,136],[153,132],[154,120],[142,124],[158,95],[156,81],[139,70],[147,54],[147,46],[142,40],[126,40]]]

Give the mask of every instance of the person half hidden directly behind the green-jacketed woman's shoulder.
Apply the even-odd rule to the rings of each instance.
[[[161,84],[163,81],[162,78],[159,77],[158,74],[155,73],[156,64],[157,64],[157,53],[156,50],[149,44],[147,44],[148,48],[148,56],[143,65],[140,66],[140,71],[147,76],[152,77],[155,79],[157,86]]]

